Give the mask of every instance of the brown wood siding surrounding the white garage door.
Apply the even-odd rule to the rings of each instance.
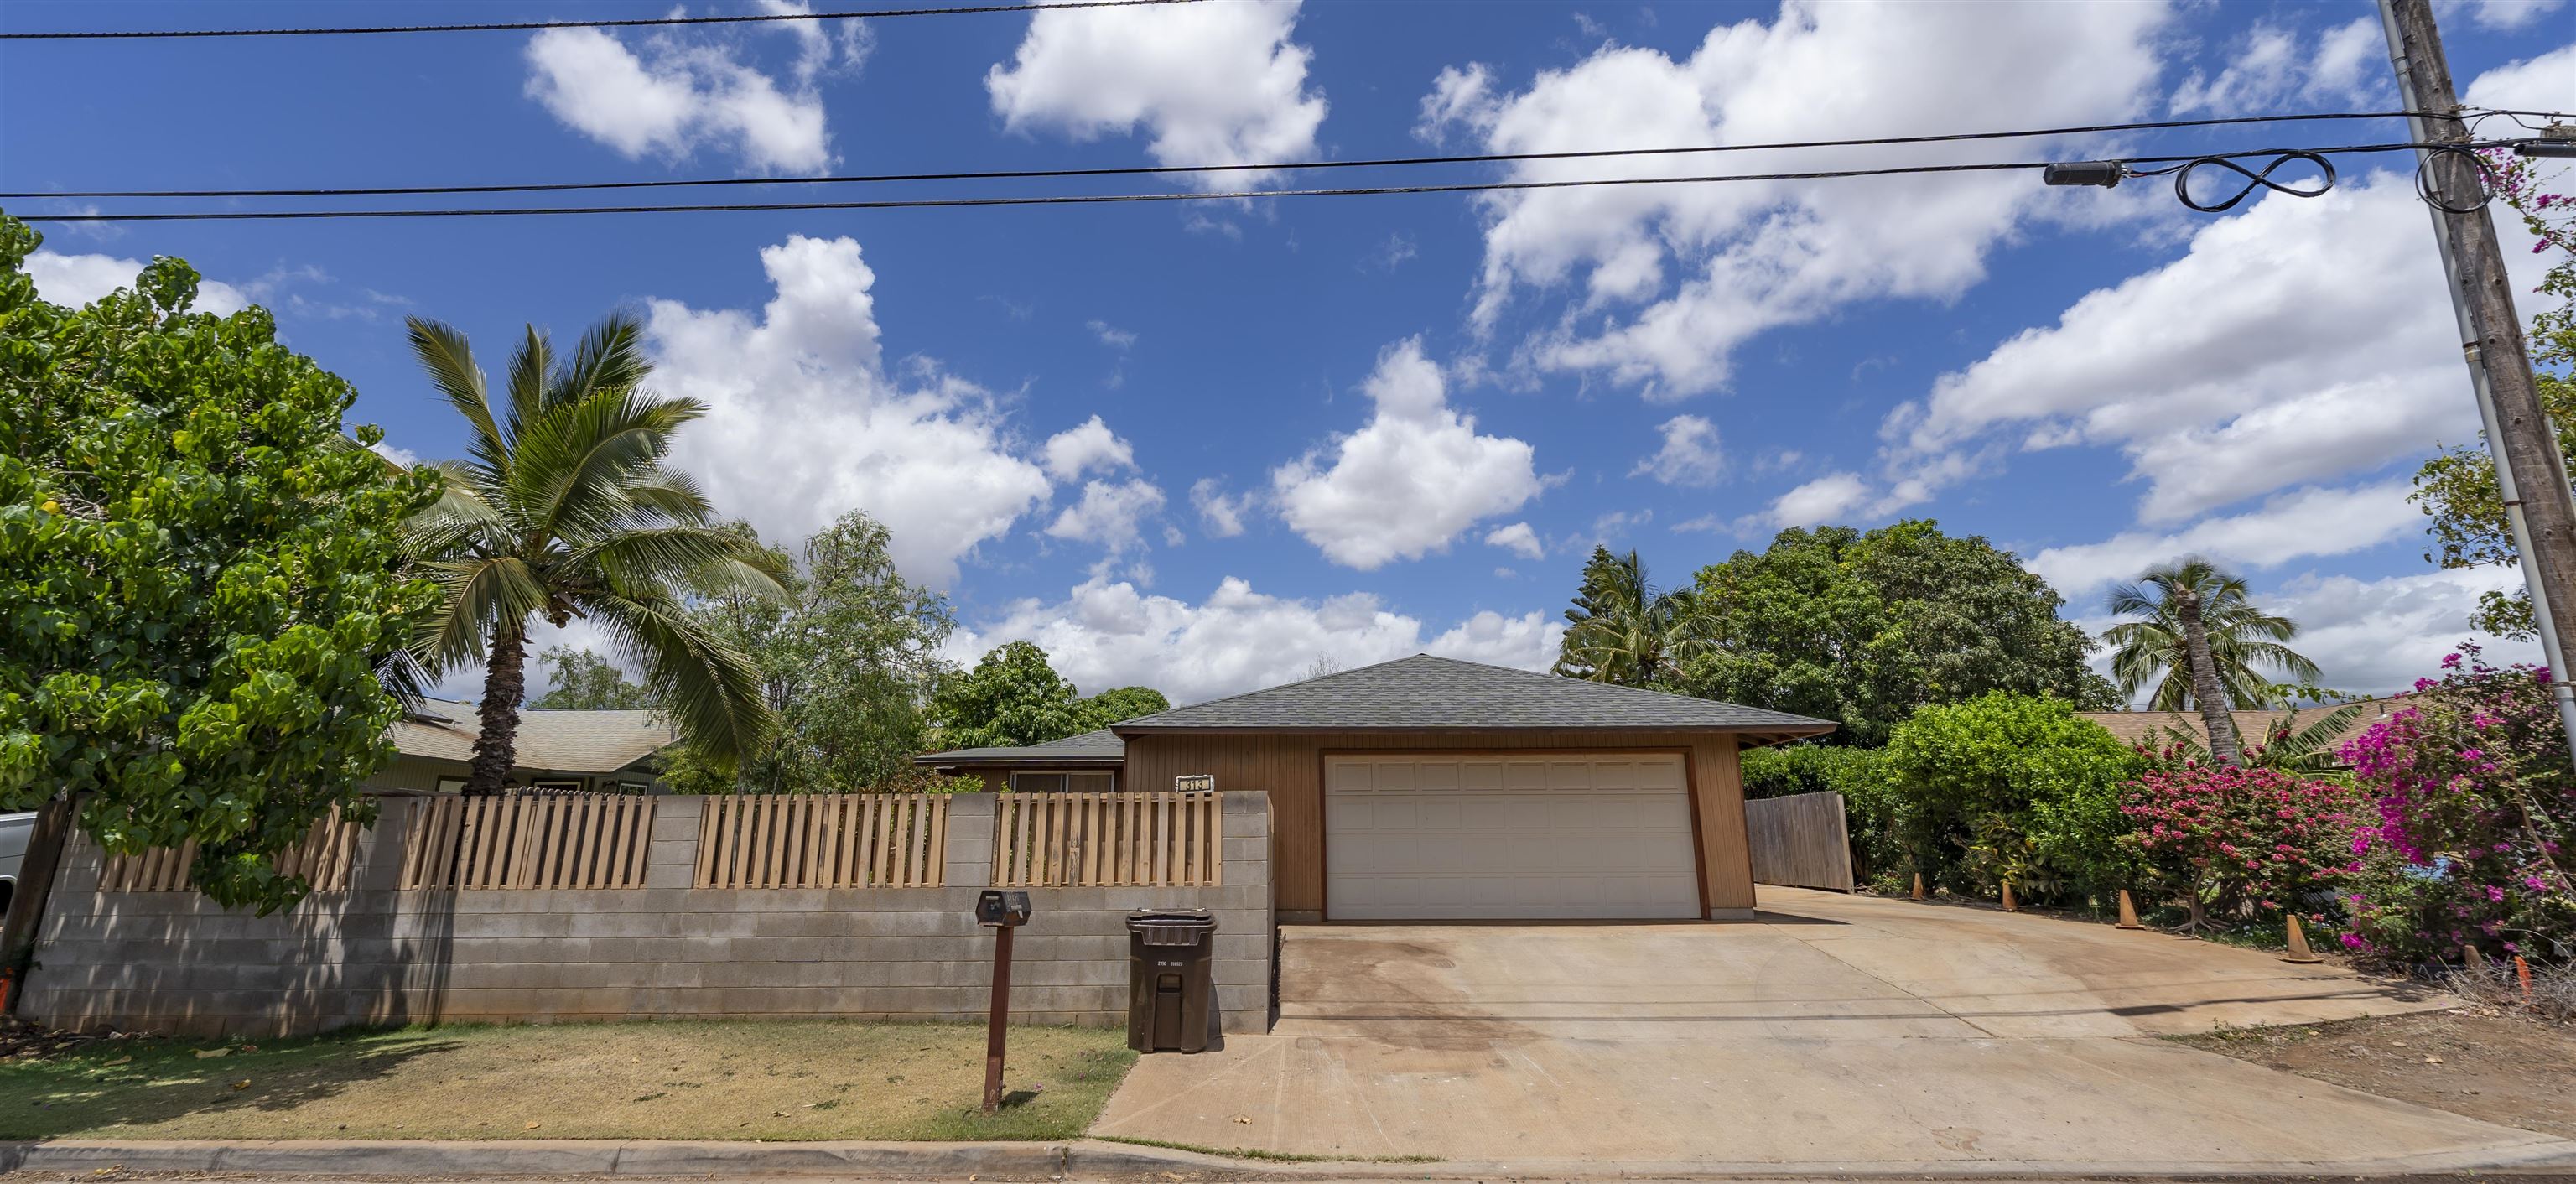
[[[1208,772],[1218,790],[1270,793],[1270,875],[1275,909],[1324,911],[1324,752],[1651,752],[1685,749],[1700,813],[1700,860],[1710,909],[1754,906],[1752,847],[1744,842],[1744,775],[1731,734],[1548,731],[1298,731],[1133,736],[1126,788],[1167,790],[1172,777]]]

